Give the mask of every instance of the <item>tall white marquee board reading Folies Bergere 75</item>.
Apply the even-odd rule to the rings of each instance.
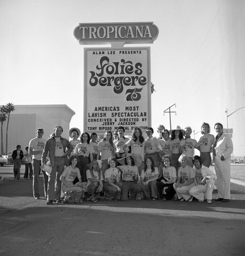
[[[84,49],[84,130],[107,130],[151,124],[150,48]]]

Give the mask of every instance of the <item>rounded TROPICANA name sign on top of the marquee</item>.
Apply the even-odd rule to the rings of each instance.
[[[151,44],[158,36],[158,28],[153,22],[80,23],[74,36],[79,44]]]

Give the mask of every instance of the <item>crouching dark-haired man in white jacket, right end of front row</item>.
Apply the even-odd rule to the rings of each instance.
[[[189,194],[192,196],[189,200],[192,200],[194,196],[198,199],[198,202],[203,202],[204,194],[206,194],[207,203],[211,204],[216,176],[208,167],[202,164],[200,156],[193,157],[193,164],[195,166],[195,181],[197,185],[189,190]]]

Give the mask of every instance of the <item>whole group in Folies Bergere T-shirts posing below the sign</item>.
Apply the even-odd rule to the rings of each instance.
[[[81,191],[81,183],[86,186],[92,202],[101,198],[103,188],[109,201],[125,201],[130,196],[138,200],[174,198],[188,202],[196,198],[211,203],[216,176],[216,201],[228,202],[231,138],[223,133],[220,123],[214,125],[216,137],[209,134],[209,124],[203,123],[201,129],[203,135],[197,142],[190,138],[190,126],[184,129],[176,126],[168,131],[159,125],[155,137],[153,128],[148,127],[146,139],[138,127],[133,129],[130,139],[126,138],[124,127],[120,126],[114,134],[106,131],[98,143],[95,132],[81,134],[78,128],[70,129],[71,140],[68,141],[61,137],[60,126],[54,128],[46,141],[42,138],[43,129],[38,128],[37,137],[30,141],[28,149],[33,155],[34,197],[40,197],[40,166],[43,169],[49,160],[51,172],[47,175],[43,171],[46,204],[61,203],[61,189],[63,192]],[[194,156],[194,148],[200,151],[200,156]],[[209,170],[210,153],[213,153],[216,175]]]

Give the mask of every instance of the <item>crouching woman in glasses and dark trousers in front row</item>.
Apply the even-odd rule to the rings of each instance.
[[[175,194],[173,184],[177,180],[176,169],[172,166],[171,156],[165,155],[162,158],[164,167],[162,168],[162,177],[156,183],[160,198],[171,200]]]

